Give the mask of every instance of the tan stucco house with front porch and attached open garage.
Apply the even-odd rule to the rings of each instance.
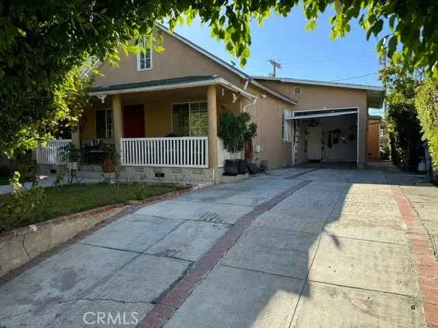
[[[250,77],[158,27],[164,52],[121,55],[117,68],[100,66],[92,109],[72,136],[77,146],[98,153],[98,143],[114,143],[129,178],[217,182],[230,156],[217,122],[229,109],[247,111],[257,123],[254,158],[270,168],[309,160],[365,166],[368,107],[381,105],[381,87]],[[40,152],[39,162],[50,164]]]

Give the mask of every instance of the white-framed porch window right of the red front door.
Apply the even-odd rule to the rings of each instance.
[[[172,105],[172,124],[175,135],[208,135],[207,102],[185,102]]]

